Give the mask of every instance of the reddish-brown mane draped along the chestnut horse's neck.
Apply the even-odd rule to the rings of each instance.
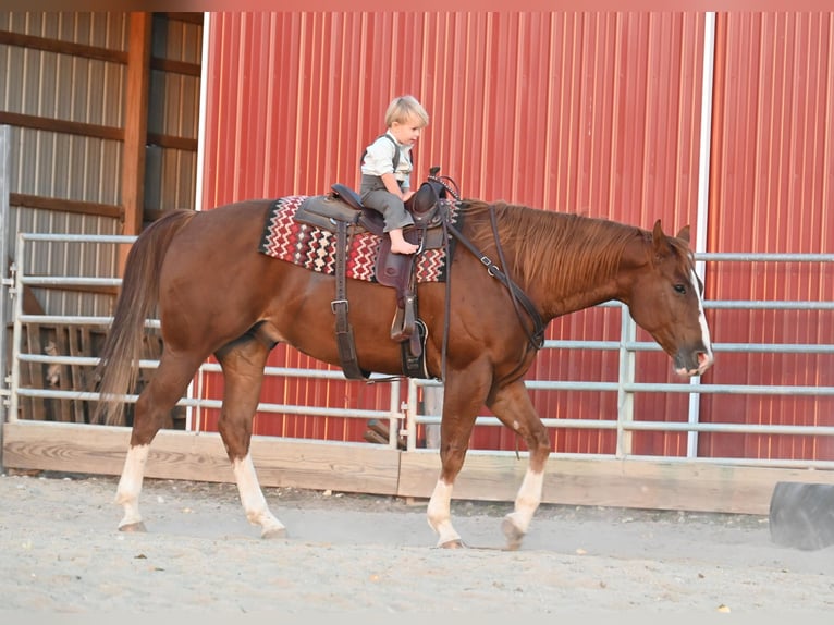
[[[623,250],[635,236],[651,233],[616,221],[580,215],[537,210],[498,201],[466,200],[461,215],[486,217],[495,211],[504,257],[519,285],[547,280],[559,293],[597,283],[614,275]],[[495,250],[489,218],[471,233],[473,243],[486,254]],[[672,241],[672,240],[670,240]],[[498,258],[492,257],[494,262]]]

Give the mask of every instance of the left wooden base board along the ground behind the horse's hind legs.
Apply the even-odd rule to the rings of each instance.
[[[126,427],[20,420],[3,426],[3,467],[119,475]],[[253,437],[262,486],[395,494],[400,452],[382,445]],[[161,430],[150,445],[149,478],[233,482],[220,434]]]

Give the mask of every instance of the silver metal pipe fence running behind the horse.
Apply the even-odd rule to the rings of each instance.
[[[26,272],[26,254],[29,242],[77,242],[88,245],[124,244],[135,241],[132,236],[113,235],[66,235],[66,234],[27,234],[21,233],[17,240],[14,265],[11,268],[12,278],[3,282],[4,290],[13,301],[13,332],[11,345],[11,372],[7,380],[8,388],[2,389],[3,403],[8,412],[8,420],[17,419],[20,397],[51,397],[64,400],[97,400],[97,393],[87,391],[62,391],[52,389],[30,389],[21,384],[21,365],[26,363],[36,364],[63,364],[94,366],[97,358],[49,356],[45,354],[24,353],[22,346],[23,327],[25,323],[62,323],[107,327],[112,321],[110,317],[100,316],[63,316],[63,315],[25,315],[23,311],[23,297],[25,287],[42,285],[50,286],[116,286],[121,284],[119,278],[98,278],[79,275],[30,275]],[[834,266],[834,254],[725,254],[704,253],[696,255],[698,261],[703,262],[822,262]],[[616,307],[621,310],[621,336],[618,341],[576,341],[576,340],[548,340],[543,350],[599,350],[612,351],[618,354],[618,376],[616,381],[579,380],[530,380],[527,388],[530,390],[550,391],[594,391],[617,393],[616,419],[587,420],[571,418],[543,418],[548,428],[562,429],[596,429],[616,431],[616,452],[612,455],[598,454],[601,458],[639,459],[631,449],[631,434],[638,431],[663,431],[687,432],[689,436],[686,457],[669,458],[670,462],[721,462],[723,464],[743,463],[747,465],[778,465],[778,466],[804,466],[812,468],[834,468],[834,462],[830,461],[773,461],[760,458],[700,458],[697,454],[697,436],[704,432],[746,433],[746,434],[792,434],[792,436],[834,436],[834,426],[801,426],[801,425],[757,425],[757,424],[714,424],[700,422],[698,418],[698,399],[702,394],[724,395],[796,395],[796,396],[834,396],[834,387],[830,385],[778,385],[778,384],[707,384],[700,379],[694,379],[690,383],[658,383],[638,382],[636,380],[635,357],[640,352],[660,351],[660,346],[653,342],[636,340],[637,327],[627,314],[624,305],[618,303],[605,303],[602,307]],[[809,301],[708,301],[704,303],[708,309],[739,309],[739,310],[834,310],[834,302],[809,302]],[[148,320],[148,327],[159,327],[157,320]],[[3,336],[4,338],[4,336]],[[746,353],[746,354],[834,354],[834,344],[772,344],[772,343],[719,343],[713,345],[716,354],[721,353]],[[154,368],[157,360],[142,360],[143,368]],[[200,368],[200,376],[216,373],[220,367],[213,363],[205,363]],[[320,369],[267,367],[267,376],[281,376],[307,379],[345,380],[341,371],[327,371]],[[373,376],[371,379],[385,379],[388,377]],[[420,395],[429,389],[442,389],[442,384],[434,380],[407,380],[406,401],[400,403],[400,382],[393,381],[391,403],[387,410],[342,409],[329,406],[296,406],[289,404],[261,403],[258,410],[261,413],[283,413],[292,415],[314,415],[322,417],[348,417],[358,419],[383,419],[390,425],[389,445],[396,448],[398,437],[406,439],[406,451],[417,450],[417,429],[419,426],[427,428],[437,427],[440,424],[439,414],[430,414],[421,409]],[[635,420],[634,400],[638,393],[687,393],[689,394],[689,416],[686,422],[647,421]],[[199,389],[196,393],[183,397],[177,405],[185,406],[189,410],[218,409],[219,400],[200,399]],[[125,395],[125,402],[135,402],[137,395]],[[198,420],[187,420],[186,429],[194,429]],[[479,416],[476,420],[478,426],[500,426],[494,417]],[[564,454],[566,456],[589,457],[594,454]],[[653,457],[653,456],[652,456]],[[658,459],[653,457],[653,459]],[[666,458],[664,458],[666,459]]]

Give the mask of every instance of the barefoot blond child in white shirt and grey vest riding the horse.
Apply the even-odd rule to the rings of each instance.
[[[385,112],[388,131],[363,156],[361,201],[382,213],[384,231],[391,236],[391,252],[396,254],[414,254],[418,248],[403,238],[403,228],[414,223],[405,210],[405,201],[414,195],[410,151],[427,125],[429,114],[414,96],[394,98]]]

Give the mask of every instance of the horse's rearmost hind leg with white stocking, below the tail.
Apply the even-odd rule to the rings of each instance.
[[[145,531],[139,514],[139,493],[150,442],[185,393],[200,363],[201,358],[194,355],[171,356],[163,353],[150,383],[139,394],[134,410],[131,445],[115,493],[115,502],[124,510],[124,517],[119,523],[121,531]]]

